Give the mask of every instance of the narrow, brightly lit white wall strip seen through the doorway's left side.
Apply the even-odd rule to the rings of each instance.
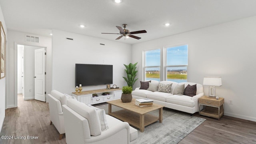
[[[23,48],[24,46],[23,45],[19,45],[18,46],[18,64],[17,64],[17,73],[18,73],[18,76],[17,76],[17,82],[18,82],[18,86],[17,86],[17,90],[18,90],[18,94],[22,94],[22,76],[24,76],[22,74],[22,67],[23,67]]]

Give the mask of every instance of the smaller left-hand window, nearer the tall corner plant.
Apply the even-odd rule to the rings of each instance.
[[[144,51],[144,80],[160,81],[160,49]]]

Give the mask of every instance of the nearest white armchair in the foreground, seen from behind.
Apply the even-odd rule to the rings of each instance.
[[[109,115],[106,115],[108,129],[102,131],[96,110],[82,102],[69,99],[62,108],[67,144],[134,144],[137,141],[136,129]]]

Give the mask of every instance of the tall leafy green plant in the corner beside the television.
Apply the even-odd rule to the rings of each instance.
[[[126,77],[123,77],[123,78],[127,82],[128,86],[133,87],[136,80],[138,80],[138,78],[135,79],[135,77],[137,76],[137,72],[138,72],[138,70],[136,70],[137,64],[138,64],[138,62],[136,62],[135,64],[130,63],[129,65],[124,64],[124,66],[126,67],[125,72],[127,74],[127,78]]]

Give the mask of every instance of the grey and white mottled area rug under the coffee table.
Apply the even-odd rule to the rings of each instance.
[[[107,103],[94,106],[104,109],[106,114],[108,113]],[[112,105],[112,112],[116,110],[121,110],[121,108]],[[150,114],[158,116],[158,110],[150,112]],[[136,128],[138,130],[138,141],[136,144],[177,144],[205,120],[204,118],[164,108],[162,123],[154,122],[146,126],[144,132],[140,132]]]

